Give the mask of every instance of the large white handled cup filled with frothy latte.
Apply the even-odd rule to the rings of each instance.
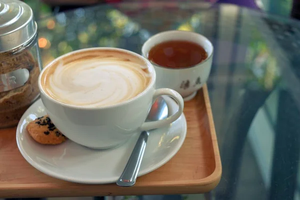
[[[96,47],[64,54],[41,71],[40,97],[54,125],[81,145],[107,149],[133,133],[159,128],[182,113],[183,99],[170,88],[155,89],[156,72],[143,56],[129,50]],[[144,122],[156,97],[171,96],[178,110]]]

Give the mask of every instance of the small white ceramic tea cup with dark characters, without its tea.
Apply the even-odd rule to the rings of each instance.
[[[156,71],[156,88],[171,88],[178,91],[184,100],[193,98],[196,91],[206,82],[211,68],[213,46],[203,35],[181,30],[169,30],[151,36],[141,48],[142,55],[148,58],[149,50],[158,43],[169,40],[186,40],[201,45],[207,58],[198,64],[183,68],[169,68],[152,63]]]

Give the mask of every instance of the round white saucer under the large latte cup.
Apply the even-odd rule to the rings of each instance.
[[[169,114],[178,106],[170,97],[164,97]],[[134,134],[125,144],[108,150],[95,150],[71,140],[59,145],[35,142],[26,131],[26,124],[46,114],[41,100],[34,102],[21,117],[16,142],[23,157],[36,169],[50,176],[80,183],[115,182],[128,160],[138,138]],[[186,135],[184,114],[167,127],[150,131],[138,176],[149,173],[173,157]]]

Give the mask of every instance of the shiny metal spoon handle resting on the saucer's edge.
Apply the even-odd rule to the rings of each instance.
[[[148,136],[149,136],[148,131],[142,131],[140,133],[138,140],[136,141],[136,144],[127,161],[127,164],[121,176],[116,181],[117,185],[124,186],[124,187],[134,185],[137,173],[139,171],[142,156],[146,148]]]

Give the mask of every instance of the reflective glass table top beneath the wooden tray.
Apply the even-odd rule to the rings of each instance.
[[[231,4],[97,5],[38,21],[43,65],[94,46],[140,53],[151,35],[190,30],[214,46],[207,81],[222,161],[213,199],[299,199],[300,23]]]

